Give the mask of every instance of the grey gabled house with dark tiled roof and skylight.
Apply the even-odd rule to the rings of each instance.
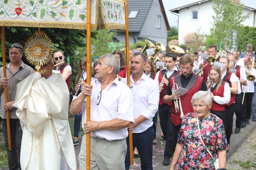
[[[170,30],[162,0],[127,0],[129,45],[148,39],[167,46]],[[115,38],[125,41],[125,32],[117,31]]]

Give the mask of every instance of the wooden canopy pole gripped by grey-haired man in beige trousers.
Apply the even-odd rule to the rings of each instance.
[[[91,85],[91,1],[87,0],[87,84]],[[91,97],[86,97],[86,122],[91,121],[90,117],[90,108],[91,108]],[[91,133],[86,134],[86,169],[90,169],[90,160],[91,160]]]

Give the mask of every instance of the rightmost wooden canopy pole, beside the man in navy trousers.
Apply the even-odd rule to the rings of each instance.
[[[128,30],[128,7],[127,0],[125,4],[125,48],[126,48],[126,71],[127,71],[127,85],[130,85],[130,58],[129,58],[129,30]],[[129,148],[130,148],[130,164],[133,165],[133,146],[132,146],[132,130],[129,130]]]

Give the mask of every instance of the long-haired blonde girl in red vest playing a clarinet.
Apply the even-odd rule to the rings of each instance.
[[[221,118],[224,123],[226,122],[225,104],[230,102],[230,88],[227,82],[222,81],[221,75],[219,66],[212,66],[209,70],[207,87],[212,97],[211,113]]]

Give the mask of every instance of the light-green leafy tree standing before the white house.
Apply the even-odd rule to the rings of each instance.
[[[232,49],[237,46],[236,35],[242,28],[242,22],[249,17],[243,15],[243,3],[234,3],[233,0],[213,0],[213,35],[217,47]]]

